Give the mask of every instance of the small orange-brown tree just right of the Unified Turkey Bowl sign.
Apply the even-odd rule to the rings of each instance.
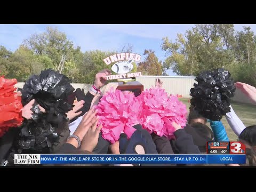
[[[158,61],[155,52],[151,49],[145,50],[144,55],[147,55],[143,62],[138,63],[138,71],[143,75],[162,75],[162,61]]]

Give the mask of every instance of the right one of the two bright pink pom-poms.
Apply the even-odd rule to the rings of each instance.
[[[175,131],[172,122],[181,127],[186,126],[187,108],[178,100],[178,97],[170,95],[164,89],[154,88],[143,91],[135,100],[140,102],[139,123],[142,127],[168,139],[174,137]]]

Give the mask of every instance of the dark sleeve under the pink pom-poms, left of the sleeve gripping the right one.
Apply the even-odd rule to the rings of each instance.
[[[174,154],[171,143],[166,137],[160,137],[155,133],[152,133],[151,136],[158,154]]]

